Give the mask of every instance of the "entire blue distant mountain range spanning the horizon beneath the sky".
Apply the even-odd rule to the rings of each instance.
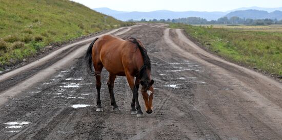
[[[250,10],[252,9],[252,10]],[[282,7],[280,8],[260,8],[260,7],[250,7],[250,8],[239,8],[230,10],[227,12],[198,12],[198,11],[184,11],[184,12],[174,12],[169,10],[158,10],[151,12],[124,12],[116,11],[109,8],[95,8],[93,9],[97,12],[110,15],[119,20],[141,20],[145,18],[149,19],[173,19],[173,18],[183,18],[183,17],[202,17],[207,20],[217,20],[220,17],[232,17],[238,16],[241,18],[253,18],[253,19],[282,19]],[[266,11],[261,11],[266,10]],[[279,11],[278,11],[279,10]],[[270,13],[269,13],[270,12]]]

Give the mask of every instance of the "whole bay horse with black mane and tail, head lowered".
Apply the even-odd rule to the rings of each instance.
[[[85,56],[88,73],[96,77],[97,108],[96,111],[103,111],[100,100],[101,72],[103,67],[109,72],[108,88],[113,111],[120,111],[114,98],[114,81],[116,76],[126,76],[132,90],[131,114],[142,117],[138,101],[139,84],[142,85],[142,96],[146,106],[146,112],[152,113],[154,97],[153,83],[151,79],[151,60],[143,43],[135,38],[124,40],[113,35],[104,35],[95,38],[89,45]],[[93,69],[93,67],[94,69]],[[136,77],[134,82],[134,77]],[[136,104],[136,107],[135,107]]]

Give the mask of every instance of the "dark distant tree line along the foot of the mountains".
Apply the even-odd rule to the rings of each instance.
[[[133,21],[130,19],[128,21]],[[231,18],[221,17],[217,20],[208,21],[205,18],[201,17],[187,17],[187,18],[176,18],[176,19],[150,19],[146,20],[142,18],[139,20],[141,22],[172,22],[172,23],[181,23],[181,24],[192,24],[192,25],[202,25],[202,24],[244,24],[244,25],[273,25],[273,24],[282,24],[282,20],[277,19],[251,19],[251,18],[240,18],[237,16],[233,16]]]

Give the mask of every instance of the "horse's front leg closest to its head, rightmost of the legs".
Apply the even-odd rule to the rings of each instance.
[[[127,78],[128,84],[129,84],[129,86],[132,90],[133,98],[135,99],[135,102],[136,102],[136,109],[137,109],[136,116],[137,117],[143,117],[143,112],[141,110],[141,107],[140,107],[140,104],[139,104],[139,101],[138,101],[138,91],[137,91],[135,84],[134,84],[134,76],[131,76],[129,72],[126,72],[126,78]]]

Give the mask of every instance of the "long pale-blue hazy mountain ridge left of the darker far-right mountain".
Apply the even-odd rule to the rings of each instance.
[[[107,15],[111,15],[119,20],[140,20],[145,18],[146,20],[149,19],[173,19],[173,18],[182,18],[182,17],[202,17],[208,20],[217,20],[220,17],[226,15],[226,12],[197,12],[197,11],[185,11],[185,12],[174,12],[169,10],[158,10],[152,12],[122,12],[122,11],[115,11],[109,8],[95,8],[97,12],[104,13]]]

